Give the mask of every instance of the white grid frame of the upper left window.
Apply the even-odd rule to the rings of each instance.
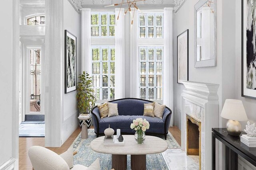
[[[94,26],[98,26],[99,27],[99,36],[91,36],[92,38],[106,38],[106,37],[115,37],[115,36],[110,36],[109,35],[109,27],[110,26],[115,26],[115,25],[110,25],[110,15],[115,15],[115,12],[91,12],[91,16],[92,15],[95,15],[95,14],[98,14],[98,18],[99,18],[99,21],[98,21],[98,25],[91,25],[91,30],[92,30],[92,27]],[[102,25],[101,24],[101,15],[107,15],[107,25]],[[102,26],[106,26],[107,27],[107,36],[102,36],[101,35],[101,27]],[[116,29],[115,29],[116,31]],[[92,35],[92,33],[91,33]]]

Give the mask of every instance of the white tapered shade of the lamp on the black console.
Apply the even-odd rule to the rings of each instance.
[[[226,99],[220,116],[236,121],[248,120],[242,101],[235,99]]]

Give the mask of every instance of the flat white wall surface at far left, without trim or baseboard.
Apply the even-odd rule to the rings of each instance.
[[[0,165],[12,157],[12,1],[3,2],[0,16]],[[17,113],[18,114],[18,113]]]

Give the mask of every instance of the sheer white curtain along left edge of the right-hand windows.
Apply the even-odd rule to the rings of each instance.
[[[138,10],[132,8],[130,23],[130,97],[139,98],[139,50],[138,50]]]

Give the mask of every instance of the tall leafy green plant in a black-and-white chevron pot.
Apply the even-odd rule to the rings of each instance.
[[[92,77],[88,74],[88,72],[83,71],[78,78],[80,82],[77,83],[77,107],[81,114],[90,113],[96,102],[94,89],[92,88]],[[89,121],[91,123],[91,120]],[[81,123],[82,122],[80,122],[80,126],[82,126]],[[90,126],[90,123],[88,126]]]

